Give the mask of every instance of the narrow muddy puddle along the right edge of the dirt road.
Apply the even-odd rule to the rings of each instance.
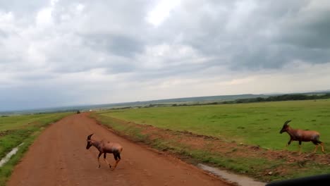
[[[252,178],[248,178],[244,175],[236,175],[233,173],[228,173],[228,171],[222,171],[218,168],[206,166],[202,163],[199,163],[197,166],[199,168],[202,168],[202,170],[212,173],[214,175],[217,175],[220,178],[228,180],[229,182],[236,182],[240,186],[264,186],[267,184],[265,182],[257,182],[255,180],[253,180]]]

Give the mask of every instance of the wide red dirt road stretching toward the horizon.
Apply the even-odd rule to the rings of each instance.
[[[229,185],[219,178],[147,147],[118,137],[88,113],[63,118],[35,140],[18,163],[7,185]],[[86,149],[86,138],[118,142],[123,146],[115,171],[94,147]],[[114,165],[114,156],[106,159]]]

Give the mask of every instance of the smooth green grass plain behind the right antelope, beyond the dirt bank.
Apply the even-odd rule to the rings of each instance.
[[[279,131],[284,121],[292,120],[292,128],[319,131],[325,149],[330,149],[330,99],[124,109],[99,114],[159,128],[221,137],[228,142],[259,145],[265,149],[285,147],[289,136]],[[292,142],[288,149],[297,151],[298,142]],[[313,149],[312,142],[302,143],[302,151]]]

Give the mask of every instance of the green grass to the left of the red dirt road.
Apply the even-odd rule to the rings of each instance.
[[[0,118],[0,158],[2,159],[11,149],[23,143],[17,153],[0,168],[0,185],[6,185],[13,168],[42,130],[50,123],[70,114],[72,113],[48,113]]]

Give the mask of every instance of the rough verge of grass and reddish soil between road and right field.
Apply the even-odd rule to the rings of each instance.
[[[285,180],[330,171],[329,154],[298,156],[293,151],[267,150],[192,132],[126,122],[99,113],[93,113],[92,117],[118,135],[173,154],[188,163],[205,163],[259,181]]]

